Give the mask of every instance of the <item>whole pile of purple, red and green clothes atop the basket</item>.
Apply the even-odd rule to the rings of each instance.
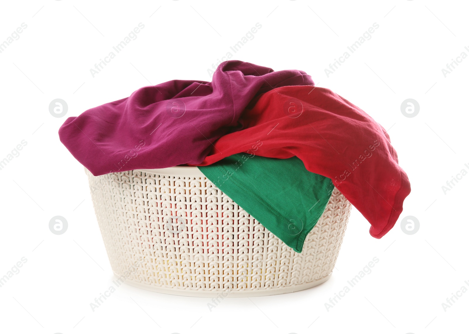
[[[410,193],[389,135],[363,110],[303,71],[239,60],[221,63],[212,82],[163,82],[69,117],[59,136],[95,176],[198,166],[295,252],[334,187],[375,238]]]

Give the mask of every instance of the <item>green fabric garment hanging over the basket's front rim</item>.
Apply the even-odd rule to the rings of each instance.
[[[307,171],[296,156],[276,159],[240,153],[198,168],[298,253],[334,189],[330,178]]]

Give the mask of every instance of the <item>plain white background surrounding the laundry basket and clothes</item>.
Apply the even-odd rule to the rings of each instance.
[[[157,10],[158,9],[158,10]],[[156,11],[156,12],[155,12]],[[463,333],[469,292],[467,150],[469,54],[465,1],[8,1],[2,2],[0,276],[27,259],[0,288],[3,333]],[[99,73],[90,68],[139,22],[144,29]],[[172,79],[211,81],[207,72],[246,32],[262,28],[231,59],[306,71],[320,87],[356,104],[386,129],[412,192],[382,239],[352,211],[332,278],[305,291],[223,300],[177,297],[123,285],[93,312],[114,279],[83,167],[57,131],[68,116]],[[329,77],[325,68],[376,22],[379,28]],[[233,53],[233,52],[232,52]],[[226,59],[223,59],[226,60]],[[49,103],[65,100],[55,118]],[[413,98],[416,117],[401,103]],[[373,203],[370,203],[373,205]],[[61,215],[68,230],[54,235]],[[420,229],[401,230],[414,216]],[[329,311],[334,293],[373,257],[378,264]],[[469,286],[467,286],[469,288]]]

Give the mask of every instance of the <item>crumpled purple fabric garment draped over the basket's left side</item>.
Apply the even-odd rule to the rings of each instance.
[[[61,142],[95,176],[133,169],[202,163],[212,143],[240,130],[238,118],[261,94],[314,85],[299,70],[240,60],[221,63],[212,82],[172,80],[69,117]]]

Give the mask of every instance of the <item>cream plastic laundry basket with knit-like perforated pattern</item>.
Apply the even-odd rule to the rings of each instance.
[[[166,294],[250,297],[321,284],[333,271],[351,208],[334,189],[296,253],[197,167],[97,177],[85,171],[114,282]]]

